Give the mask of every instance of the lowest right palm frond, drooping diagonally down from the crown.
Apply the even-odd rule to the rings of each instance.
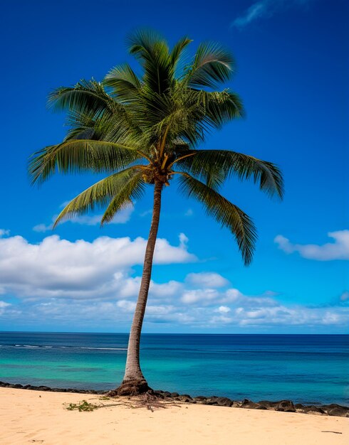
[[[201,181],[184,172],[179,173],[179,190],[188,197],[197,199],[214,220],[230,230],[234,235],[244,264],[251,263],[255,244],[256,227],[246,213],[224,196],[206,186]]]

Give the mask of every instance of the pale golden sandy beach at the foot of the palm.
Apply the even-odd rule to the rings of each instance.
[[[169,404],[152,412],[96,395],[13,388],[1,388],[0,395],[1,445],[349,443],[349,419],[342,417],[201,404]],[[118,406],[93,412],[66,409],[81,400]]]

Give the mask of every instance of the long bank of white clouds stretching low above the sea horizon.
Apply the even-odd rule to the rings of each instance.
[[[26,328],[83,326],[87,331],[127,328],[140,287],[132,268],[142,264],[145,245],[141,237],[71,242],[53,235],[38,244],[21,236],[0,237],[0,322]],[[178,245],[157,240],[155,264],[195,261],[184,234]],[[194,330],[318,326],[321,331],[321,326],[349,323],[348,302],[345,291],[331,306],[285,305],[272,291],[248,295],[217,272],[192,272],[182,281],[151,282],[145,323],[153,330],[162,323]]]

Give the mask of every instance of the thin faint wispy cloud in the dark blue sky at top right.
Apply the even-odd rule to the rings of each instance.
[[[259,0],[246,9],[237,17],[231,26],[244,28],[260,18],[270,18],[275,14],[282,13],[288,9],[303,8],[308,6],[312,0]]]

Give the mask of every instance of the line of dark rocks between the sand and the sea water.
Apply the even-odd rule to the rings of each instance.
[[[77,390],[75,388],[51,388],[48,386],[33,386],[33,385],[20,385],[19,383],[13,384],[8,382],[0,382],[0,387],[4,388],[18,388],[21,390],[32,391],[51,391],[51,392],[75,392],[77,394],[95,394],[105,395],[108,391],[96,391],[96,390]],[[252,402],[251,400],[244,399],[242,401],[231,400],[228,397],[217,396],[197,396],[191,397],[187,394],[180,395],[178,392],[168,392],[162,390],[155,390],[155,395],[161,399],[174,400],[182,403],[198,403],[215,405],[219,407],[234,407],[245,409],[269,409],[271,411],[279,412],[301,412],[303,414],[316,414],[327,415],[337,417],[349,417],[349,407],[343,405],[331,403],[322,405],[304,405],[301,403],[293,404],[291,400],[279,400],[278,402],[270,402],[269,400],[261,400],[260,402]]]

